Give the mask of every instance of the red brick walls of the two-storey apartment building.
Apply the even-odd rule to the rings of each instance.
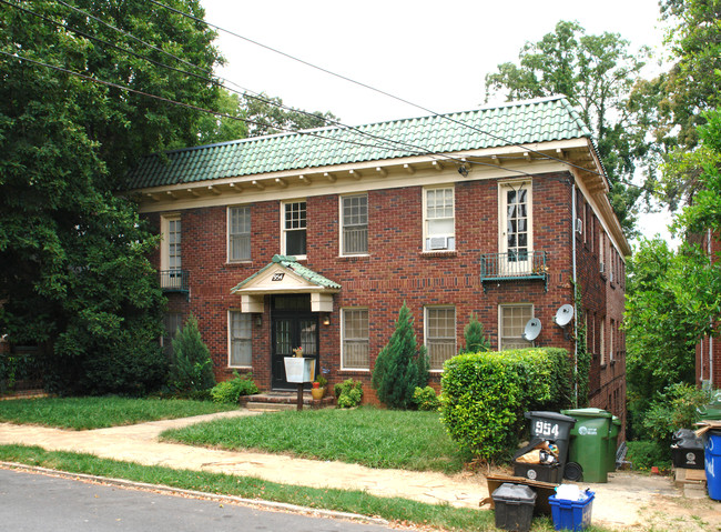
[[[341,369],[341,310],[352,307],[368,309],[370,368],[393,333],[404,301],[414,314],[419,343],[424,342],[424,308],[453,305],[457,348],[463,347],[464,327],[475,312],[494,349],[499,339],[499,305],[530,303],[535,318],[542,323],[536,344],[561,347],[573,357],[573,340],[566,339],[552,319],[560,305],[573,304],[575,241],[576,274],[582,305],[579,310],[583,311],[581,320],[588,320],[588,349],[593,353],[589,389],[591,405],[624,418],[626,349],[619,329],[623,312],[623,260],[593,209],[586,202],[586,195],[577,192],[579,189],[570,172],[537,174],[531,181],[532,249],[547,254],[547,283],[542,280],[517,280],[481,284],[481,253],[499,252],[501,228],[497,179],[459,178],[451,184],[455,251],[423,251],[424,189],[414,184],[413,179],[405,187],[366,191],[367,255],[339,257],[338,194],[305,198],[307,260],[303,264],[342,285],[334,295],[329,324],[319,324],[319,363],[331,370],[331,383],[359,379],[364,383],[366,400],[375,402],[369,370]],[[573,220],[575,195],[579,203],[576,218],[585,220],[580,228]],[[252,260],[229,263],[227,207],[233,204],[242,203],[173,211],[180,213],[182,221],[182,264],[189,271],[190,291],[187,294],[170,293],[169,310],[196,315],[203,340],[213,357],[216,377],[221,380],[233,371],[229,368],[229,311],[241,308],[240,297],[231,294],[231,289],[281,253],[282,202],[257,201],[250,203]],[[581,215],[582,212],[587,214]],[[161,214],[146,214],[159,231]],[[609,263],[605,264],[603,272],[599,267],[601,241],[606,247],[603,257]],[[153,260],[159,264],[160,253]],[[252,371],[258,387],[268,390],[272,388],[270,297],[265,297],[264,304],[265,312],[253,322]],[[601,322],[605,323],[606,337],[602,341]],[[601,357],[601,345],[606,350],[605,357]],[[609,353],[612,353],[612,360]],[[439,385],[439,373],[433,373],[431,383],[436,388]]]

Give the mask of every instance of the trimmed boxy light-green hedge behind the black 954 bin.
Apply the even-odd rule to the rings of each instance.
[[[557,348],[460,354],[446,361],[440,384],[450,438],[494,460],[516,449],[525,411],[570,404],[571,368],[568,352]]]

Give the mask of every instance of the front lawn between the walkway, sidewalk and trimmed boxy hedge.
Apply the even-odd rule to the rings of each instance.
[[[303,410],[197,423],[161,434],[165,441],[253,449],[370,468],[456,473],[471,456],[450,440],[437,412]]]

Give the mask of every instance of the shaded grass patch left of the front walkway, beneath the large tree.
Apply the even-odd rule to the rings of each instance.
[[[87,430],[189,418],[237,406],[177,399],[42,398],[0,401],[0,421]]]

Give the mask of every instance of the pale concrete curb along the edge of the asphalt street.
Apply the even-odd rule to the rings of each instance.
[[[299,506],[297,504],[288,504],[285,502],[273,502],[273,501],[263,501],[258,499],[244,499],[242,496],[234,495],[219,495],[216,493],[205,493],[202,491],[194,490],[182,490],[180,488],[171,488],[162,484],[146,484],[144,482],[133,482],[124,479],[112,479],[108,476],[97,476],[93,474],[84,473],[70,473],[68,471],[59,471],[54,469],[41,468],[39,465],[27,465],[23,463],[17,462],[3,462],[0,461],[0,468],[2,469],[14,469],[23,471],[32,471],[35,473],[50,474],[54,476],[60,476],[63,479],[70,480],[87,480],[91,482],[98,482],[102,484],[116,485],[119,488],[133,488],[138,490],[148,490],[148,491],[160,491],[169,494],[177,495],[189,495],[197,499],[205,499],[211,501],[219,502],[229,502],[234,504],[243,504],[246,506],[260,506],[268,510],[282,510],[284,512],[292,513],[302,513],[306,515],[321,516],[321,518],[333,518],[333,519],[346,519],[351,521],[359,521],[364,523],[378,524],[387,526],[388,521],[380,518],[369,518],[367,515],[360,515],[359,513],[348,513],[348,512],[336,512],[334,510],[322,510],[317,508]]]

